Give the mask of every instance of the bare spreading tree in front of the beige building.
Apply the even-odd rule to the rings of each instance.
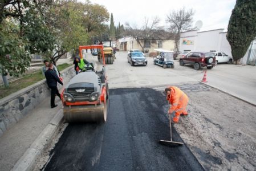
[[[160,19],[158,17],[152,18],[152,21],[149,21],[149,18],[144,18],[144,24],[141,28],[136,26],[132,27],[129,23],[125,23],[127,34],[132,35],[136,39],[137,43],[140,44],[140,47],[145,48],[146,42],[149,42],[150,39],[159,38],[160,31],[162,27],[159,26]],[[143,39],[144,46],[142,46],[140,40]]]

